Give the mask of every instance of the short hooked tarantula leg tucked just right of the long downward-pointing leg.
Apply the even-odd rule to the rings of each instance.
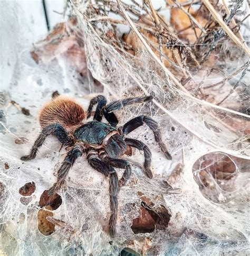
[[[119,180],[119,186],[121,187],[121,186],[126,185],[128,180],[131,177],[130,163],[123,159],[110,158],[105,151],[100,151],[99,156],[100,156],[101,160],[103,160],[105,163],[108,163],[110,166],[125,169],[121,179]]]

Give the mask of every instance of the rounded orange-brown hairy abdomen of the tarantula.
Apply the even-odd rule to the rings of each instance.
[[[84,109],[74,99],[58,96],[41,109],[39,122],[42,128],[57,123],[71,129],[72,126],[80,125],[85,118]]]

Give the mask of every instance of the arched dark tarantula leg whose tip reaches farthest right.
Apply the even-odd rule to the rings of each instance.
[[[171,160],[172,157],[168,152],[166,145],[162,141],[159,125],[151,117],[141,115],[131,119],[129,122],[123,125],[122,132],[127,135],[128,133],[132,132],[143,124],[147,124],[148,127],[152,130],[153,134],[155,135],[155,140],[160,146],[161,151],[165,154],[165,157],[167,159]]]

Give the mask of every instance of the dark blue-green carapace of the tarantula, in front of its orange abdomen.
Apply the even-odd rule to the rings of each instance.
[[[97,121],[88,122],[75,130],[74,136],[79,141],[90,145],[101,145],[106,136],[116,128]]]

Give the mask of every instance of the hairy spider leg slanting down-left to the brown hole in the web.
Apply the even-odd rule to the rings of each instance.
[[[71,149],[64,158],[61,167],[57,171],[57,181],[55,184],[49,189],[48,194],[53,195],[57,191],[59,191],[63,185],[65,184],[65,179],[69,173],[70,168],[75,163],[75,160],[81,157],[83,154],[83,149],[80,145],[76,144],[73,149]]]

